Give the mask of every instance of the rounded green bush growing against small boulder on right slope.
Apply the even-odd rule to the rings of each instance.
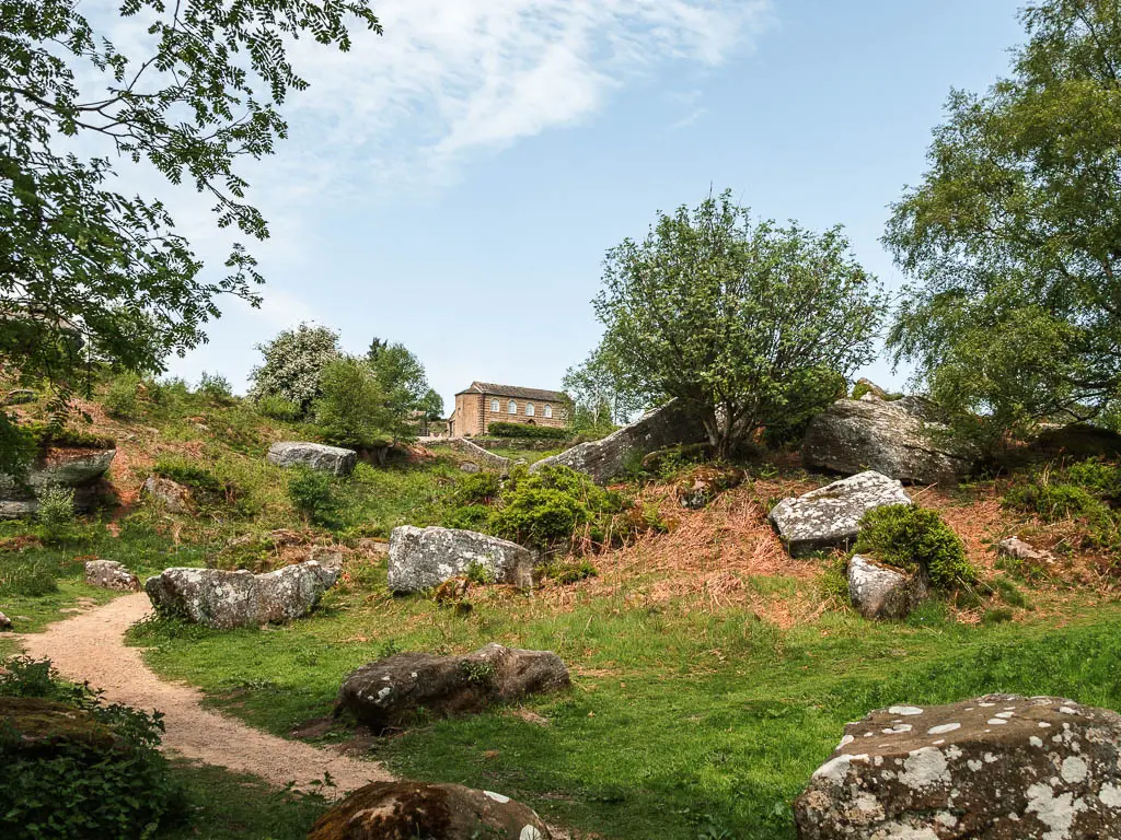
[[[925,570],[938,589],[976,580],[965,545],[937,511],[887,505],[864,514],[854,551],[908,571]]]

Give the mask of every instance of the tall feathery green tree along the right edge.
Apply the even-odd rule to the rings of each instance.
[[[1121,6],[1020,12],[1011,74],[953,91],[884,243],[911,278],[897,362],[992,433],[1111,412],[1121,388]]]

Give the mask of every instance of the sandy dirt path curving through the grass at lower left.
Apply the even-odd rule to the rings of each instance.
[[[49,656],[64,676],[104,689],[110,701],[164,712],[164,746],[186,758],[252,773],[277,786],[295,781],[305,790],[330,773],[335,793],[391,778],[380,764],[285,740],[206,711],[200,704],[201,692],[157,678],[140,651],[126,647],[123,641],[129,625],[150,608],[143,592],[127,595],[53,624],[46,633],[18,636],[17,642],[30,656]],[[331,795],[330,790],[326,793]]]

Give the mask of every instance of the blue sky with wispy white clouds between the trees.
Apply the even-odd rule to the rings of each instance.
[[[274,233],[253,249],[265,306],[226,301],[170,373],[242,390],[254,344],[308,320],[354,352],[404,342],[447,410],[476,379],[559,388],[597,342],[606,249],[710,186],[761,216],[844,225],[897,288],[888,205],[920,178],[949,88],[1006,72],[1019,6],[376,0],[382,38],[299,46],[312,88],[249,170]],[[213,258],[202,209],[185,200],[184,227]]]

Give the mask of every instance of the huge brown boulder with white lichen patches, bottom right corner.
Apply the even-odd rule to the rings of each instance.
[[[1054,697],[892,706],[845,727],[800,840],[1121,837],[1121,716]]]

